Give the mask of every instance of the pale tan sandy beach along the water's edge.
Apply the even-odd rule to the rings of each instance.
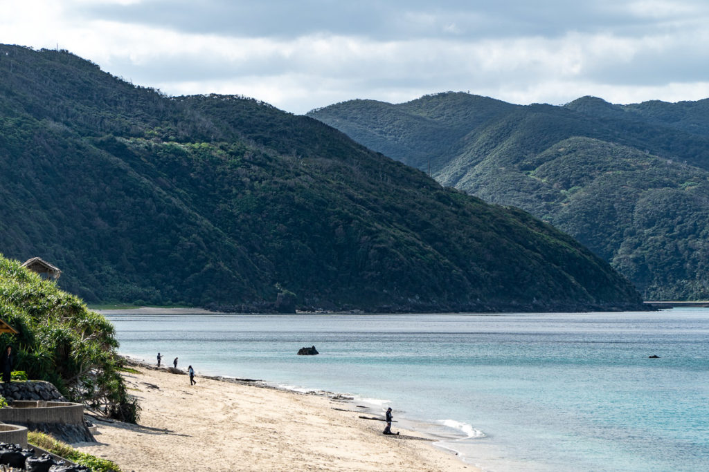
[[[477,471],[416,432],[381,434],[356,405],[138,367],[127,373],[139,425],[96,420],[82,451],[123,471]],[[396,419],[396,411],[395,419]]]

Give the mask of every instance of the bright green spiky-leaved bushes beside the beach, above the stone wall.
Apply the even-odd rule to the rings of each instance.
[[[72,401],[135,422],[139,406],[120,375],[118,342],[106,318],[72,294],[0,255],[0,318],[18,331],[0,345],[16,357],[13,381],[44,380]],[[18,371],[19,372],[19,371]]]

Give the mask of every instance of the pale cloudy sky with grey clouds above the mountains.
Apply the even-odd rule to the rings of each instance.
[[[706,0],[0,0],[0,42],[169,95],[293,113],[469,91],[511,103],[709,97]]]

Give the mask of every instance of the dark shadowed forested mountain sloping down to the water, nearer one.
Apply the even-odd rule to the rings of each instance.
[[[0,251],[88,301],[248,311],[637,308],[519,211],[310,117],[167,97],[65,51],[0,46]]]

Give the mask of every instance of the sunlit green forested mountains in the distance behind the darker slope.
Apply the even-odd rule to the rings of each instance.
[[[644,299],[709,299],[709,100],[522,106],[450,92],[308,115],[557,226]]]

